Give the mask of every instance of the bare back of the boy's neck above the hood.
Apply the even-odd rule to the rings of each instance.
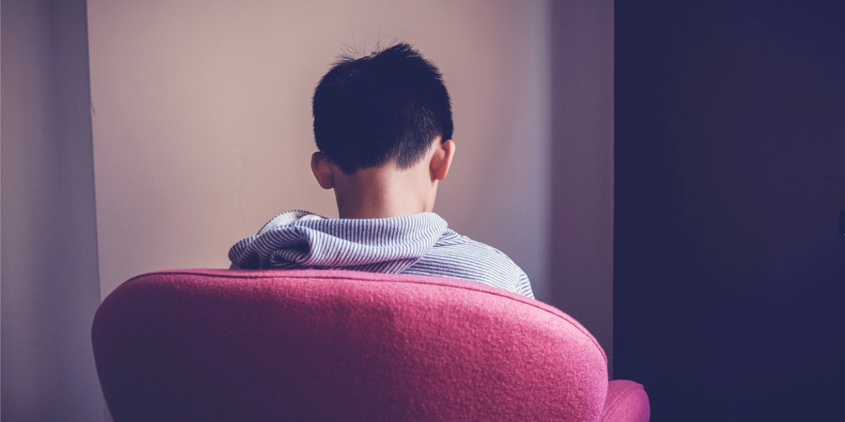
[[[386,219],[431,211],[433,192],[436,181],[413,168],[397,170],[390,165],[335,176],[341,219]]]

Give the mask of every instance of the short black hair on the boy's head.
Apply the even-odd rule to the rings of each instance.
[[[401,43],[341,57],[313,95],[317,148],[346,174],[395,160],[422,160],[434,138],[452,138],[449,92],[432,62]]]

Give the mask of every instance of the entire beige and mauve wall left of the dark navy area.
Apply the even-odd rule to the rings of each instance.
[[[244,3],[3,1],[3,420],[99,419],[90,322],[124,279],[225,267],[287,208],[336,215],[310,93],[379,38],[454,97],[439,213],[612,353],[612,2]]]

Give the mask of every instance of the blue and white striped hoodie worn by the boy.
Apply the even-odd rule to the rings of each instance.
[[[338,268],[465,279],[534,297],[528,277],[499,250],[446,226],[438,214],[325,219],[276,215],[229,250],[232,269]]]

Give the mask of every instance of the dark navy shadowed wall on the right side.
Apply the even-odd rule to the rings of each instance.
[[[842,6],[615,16],[615,375],[657,422],[841,417]]]

